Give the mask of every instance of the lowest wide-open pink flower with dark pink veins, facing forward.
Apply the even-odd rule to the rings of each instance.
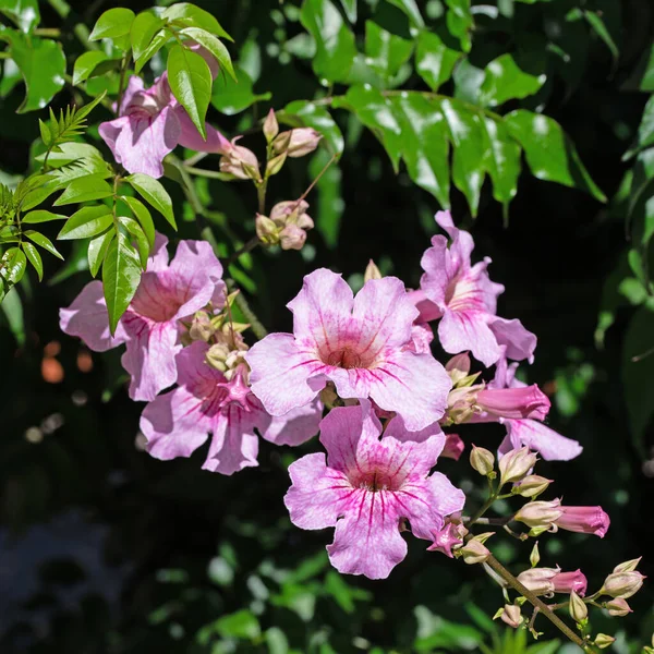
[[[445,516],[460,511],[461,491],[436,472],[443,437],[402,443],[379,440],[382,426],[368,402],[332,409],[320,423],[324,453],[302,457],[289,473],[284,497],[291,522],[301,529],[336,526],[327,546],[339,572],[385,579],[407,555],[400,522],[432,540]]]

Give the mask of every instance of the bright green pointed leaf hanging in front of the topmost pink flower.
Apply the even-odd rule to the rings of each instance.
[[[168,82],[172,94],[189,113],[197,131],[207,137],[205,118],[211,99],[211,71],[199,55],[172,46],[168,52]]]

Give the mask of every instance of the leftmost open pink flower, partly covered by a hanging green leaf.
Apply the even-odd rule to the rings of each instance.
[[[109,334],[102,283],[92,281],[69,308],[60,311],[62,331],[102,352],[125,343],[123,367],[131,374],[130,397],[153,400],[177,379],[175,354],[182,349],[179,320],[209,301],[225,302],[222,266],[205,241],[181,241],[168,263],[168,240],[157,235],[147,269],[128,311]]]

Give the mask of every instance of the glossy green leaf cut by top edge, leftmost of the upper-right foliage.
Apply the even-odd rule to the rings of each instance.
[[[330,0],[304,0],[300,21],[316,41],[313,69],[327,82],[344,82],[354,58],[354,34]]]

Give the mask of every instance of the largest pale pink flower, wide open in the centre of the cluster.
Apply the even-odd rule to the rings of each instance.
[[[320,268],[288,307],[293,334],[270,334],[245,355],[252,392],[269,413],[308,403],[331,380],[341,398],[371,398],[412,432],[443,416],[451,382],[431,354],[409,351],[417,311],[399,279],[371,279],[354,298]]]

